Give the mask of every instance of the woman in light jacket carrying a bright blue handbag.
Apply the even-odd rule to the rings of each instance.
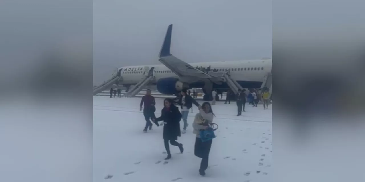
[[[216,124],[213,123],[213,118],[214,114],[210,103],[204,102],[199,113],[195,115],[193,122],[193,133],[196,134],[194,153],[201,158],[199,174],[202,176],[205,175],[205,170],[208,168],[212,139],[215,138],[214,131],[216,128],[214,129],[212,126]]]

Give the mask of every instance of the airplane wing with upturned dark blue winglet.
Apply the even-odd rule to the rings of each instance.
[[[165,40],[161,47],[159,61],[179,77],[196,76],[198,78],[212,78],[211,75],[196,69],[190,64],[185,63],[184,61],[170,54],[171,35],[172,35],[172,24],[169,25],[167,29]]]

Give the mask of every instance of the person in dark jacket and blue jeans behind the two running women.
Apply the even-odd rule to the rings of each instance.
[[[183,90],[181,90],[180,93],[180,98],[177,102],[178,105],[180,105],[181,107],[181,116],[182,119],[184,121],[184,128],[183,131],[181,131],[182,133],[186,133],[186,128],[189,126],[188,124],[188,115],[189,115],[189,110],[190,108],[193,107],[193,103],[200,109],[201,106],[199,105],[198,102],[196,102],[195,99],[193,99],[190,95],[187,94],[187,89],[184,88]]]

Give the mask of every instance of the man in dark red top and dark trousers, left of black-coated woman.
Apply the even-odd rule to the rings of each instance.
[[[143,129],[143,132],[147,132],[147,128],[149,127],[150,130],[152,130],[152,123],[150,122],[150,119],[153,120],[156,118],[155,116],[155,98],[151,95],[151,90],[147,89],[146,95],[142,97],[141,104],[140,104],[140,111],[142,111],[142,105],[144,103],[143,108],[143,115],[146,119],[146,126],[145,129]],[[157,126],[158,123],[154,122]]]

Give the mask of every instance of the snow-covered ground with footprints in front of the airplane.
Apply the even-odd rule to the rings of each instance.
[[[139,111],[141,98],[93,97],[93,179],[94,182],[268,182],[272,177],[272,105],[252,107],[237,115],[235,102],[213,105],[219,125],[213,139],[206,176],[199,175],[200,158],[194,155],[193,117],[188,131],[178,138],[184,153],[170,146],[172,159],[164,164],[162,127],[143,133],[145,120]],[[156,99],[160,116],[163,99]],[[203,103],[203,101],[199,101]],[[183,122],[181,121],[181,128]],[[160,161],[160,162],[159,162]],[[104,179],[107,175],[111,178]]]

